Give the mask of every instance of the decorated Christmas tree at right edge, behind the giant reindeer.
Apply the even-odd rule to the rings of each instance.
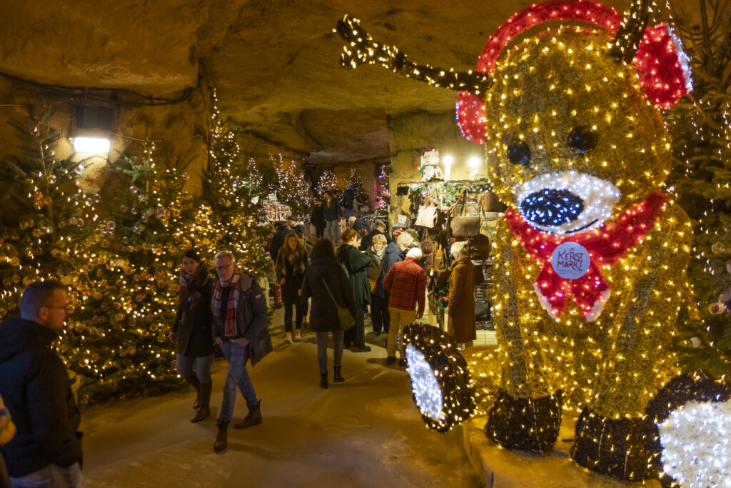
[[[678,323],[681,366],[718,376],[731,368],[731,12],[700,5],[700,24],[679,23],[694,89],[668,114],[669,184],[694,224],[688,275],[702,318]]]

